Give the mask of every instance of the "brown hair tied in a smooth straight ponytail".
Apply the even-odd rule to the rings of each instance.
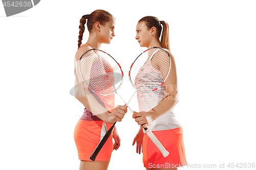
[[[139,22],[145,21],[145,25],[148,29],[155,27],[157,29],[156,37],[159,39],[162,31],[161,24],[163,25],[163,31],[161,36],[161,46],[170,50],[170,42],[169,42],[169,25],[165,21],[159,21],[157,17],[154,16],[145,16],[139,20]]]

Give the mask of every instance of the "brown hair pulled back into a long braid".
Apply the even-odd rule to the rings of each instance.
[[[86,24],[86,19],[87,29],[89,33],[91,33],[95,22],[99,21],[101,25],[105,25],[106,22],[109,22],[110,19],[115,19],[115,17],[111,13],[104,10],[95,10],[90,15],[83,15],[80,19],[78,48],[82,44],[82,35],[84,33],[84,25]]]

